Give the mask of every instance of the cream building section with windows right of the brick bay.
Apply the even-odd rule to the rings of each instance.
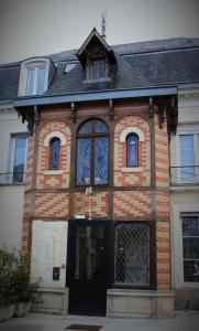
[[[178,90],[178,127],[170,141],[175,306],[199,308],[199,89]]]

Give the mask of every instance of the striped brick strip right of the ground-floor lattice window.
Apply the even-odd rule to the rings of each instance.
[[[170,227],[168,222],[156,223],[157,287],[170,288]]]

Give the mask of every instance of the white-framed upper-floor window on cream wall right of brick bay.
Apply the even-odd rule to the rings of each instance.
[[[199,135],[179,135],[180,183],[199,183]]]

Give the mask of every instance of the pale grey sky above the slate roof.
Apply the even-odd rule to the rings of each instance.
[[[0,0],[0,63],[79,49],[104,8],[110,45],[199,38],[199,0]]]

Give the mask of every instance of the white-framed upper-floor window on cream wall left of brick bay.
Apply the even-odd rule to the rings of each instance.
[[[25,161],[27,149],[27,136],[18,135],[12,137],[11,154],[11,182],[23,183],[25,174]]]

